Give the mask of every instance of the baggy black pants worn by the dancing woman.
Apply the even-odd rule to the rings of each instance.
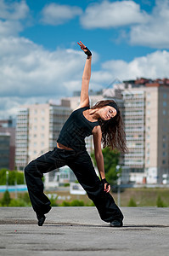
[[[110,193],[104,192],[104,184],[96,175],[87,151],[76,153],[74,150],[61,148],[54,148],[53,151],[42,154],[25,167],[25,181],[35,212],[47,213],[51,209],[50,201],[43,193],[43,173],[62,166],[69,166],[75,173],[78,182],[97,207],[102,220],[111,222],[115,219],[120,221],[123,219],[121,210],[115,205],[113,197]]]

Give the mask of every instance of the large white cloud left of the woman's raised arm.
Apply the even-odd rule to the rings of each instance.
[[[43,49],[25,38],[0,40],[1,96],[59,96],[72,79],[79,81],[84,61],[80,50]],[[79,87],[80,89],[80,87]]]

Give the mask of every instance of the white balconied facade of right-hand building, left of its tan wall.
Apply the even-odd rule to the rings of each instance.
[[[142,183],[144,177],[145,95],[143,90],[123,90],[122,96],[123,120],[129,148],[129,153],[124,154],[123,172],[128,172],[130,176],[126,182]]]

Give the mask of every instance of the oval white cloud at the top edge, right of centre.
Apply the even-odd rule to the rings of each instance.
[[[148,15],[133,1],[104,1],[87,7],[81,23],[85,28],[110,28],[144,23]]]

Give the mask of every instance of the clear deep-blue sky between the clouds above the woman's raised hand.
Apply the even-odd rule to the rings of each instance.
[[[154,49],[144,45],[131,45],[127,38],[124,38],[130,27],[123,26],[107,26],[103,28],[85,28],[82,26],[79,15],[71,20],[65,20],[62,24],[53,25],[51,22],[42,22],[42,9],[48,7],[48,3],[55,3],[60,6],[79,7],[84,13],[87,8],[94,9],[104,1],[27,1],[29,8],[33,12],[34,25],[26,27],[21,36],[31,39],[36,44],[42,44],[46,49],[54,50],[57,46],[63,48],[76,49],[76,42],[82,40],[93,50],[99,53],[101,61],[108,61],[112,58],[115,60],[122,59],[124,61],[132,61],[135,56],[142,56],[151,53]],[[124,3],[124,1],[110,1],[108,3]],[[128,1],[131,2],[131,1]],[[138,3],[141,11],[151,14],[155,8],[155,1],[143,0],[134,1]],[[57,5],[55,6],[57,8]],[[119,14],[121,16],[121,14]],[[122,20],[122,16],[121,16]],[[127,35],[126,35],[127,36]],[[98,63],[99,64],[99,63]]]

